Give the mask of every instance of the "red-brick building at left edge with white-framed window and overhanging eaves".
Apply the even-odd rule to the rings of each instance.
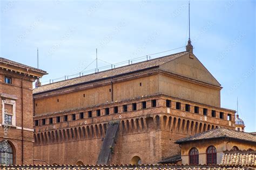
[[[0,164],[33,164],[32,82],[44,74],[0,58]]]

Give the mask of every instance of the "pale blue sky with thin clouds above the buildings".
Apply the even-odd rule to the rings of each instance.
[[[45,84],[95,69],[87,66],[96,48],[103,67],[185,46],[187,8],[188,1],[1,1],[0,55],[37,67],[38,47]],[[239,98],[248,132],[256,131],[255,30],[255,1],[191,0],[194,54],[224,87],[221,107],[236,110]]]

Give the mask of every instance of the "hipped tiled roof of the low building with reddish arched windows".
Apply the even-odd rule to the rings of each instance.
[[[233,138],[237,140],[252,141],[256,143],[256,136],[251,133],[235,131],[232,129],[217,128],[208,130],[202,133],[195,134],[190,137],[182,138],[176,141],[177,144],[186,143],[189,141],[203,140],[203,139],[214,139],[214,138]]]

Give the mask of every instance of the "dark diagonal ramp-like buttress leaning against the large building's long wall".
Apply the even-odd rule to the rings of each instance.
[[[98,165],[106,165],[109,163],[111,154],[114,148],[114,139],[117,138],[117,132],[120,121],[110,121],[106,131],[105,138],[103,140],[102,148],[98,156]]]

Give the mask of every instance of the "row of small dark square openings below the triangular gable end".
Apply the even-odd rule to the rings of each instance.
[[[170,100],[166,100],[166,107],[171,108],[171,101]],[[176,109],[181,110],[181,103],[180,102],[176,102]],[[185,111],[191,112],[191,105],[190,104],[185,104]],[[199,114],[199,107],[194,106],[194,111],[193,112],[195,114]],[[208,109],[203,108],[203,115],[205,115],[205,116],[208,115]],[[216,117],[216,111],[215,110],[212,110],[211,116]],[[224,112],[220,112],[219,118],[224,119]],[[227,120],[228,121],[232,120],[232,115],[231,114],[227,114]]]

